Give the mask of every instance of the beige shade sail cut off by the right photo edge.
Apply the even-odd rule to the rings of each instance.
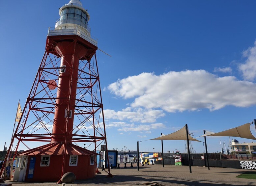
[[[231,129],[228,129],[228,130],[225,130],[222,132],[217,132],[217,133],[206,131],[206,133],[200,137],[204,137],[204,136],[233,136],[233,137],[240,137],[240,138],[256,140],[256,138],[251,133],[250,125],[251,125],[251,123],[246,123],[241,126],[231,128]]]

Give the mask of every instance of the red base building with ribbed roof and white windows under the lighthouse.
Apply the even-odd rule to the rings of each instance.
[[[53,182],[62,175],[64,145],[47,144],[18,154],[14,181]],[[72,144],[66,147],[65,173],[72,172],[76,179],[95,177],[97,154]]]

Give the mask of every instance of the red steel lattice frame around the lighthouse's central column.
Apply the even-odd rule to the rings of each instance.
[[[68,97],[68,113],[71,107],[72,90],[69,90],[69,95],[66,97],[58,97],[57,90],[59,78],[62,51],[56,50],[56,43],[58,43],[59,37],[47,37],[46,50],[43,55],[42,62],[38,69],[35,81],[27,98],[26,104],[19,120],[14,137],[11,141],[11,145],[8,149],[7,155],[14,149],[14,157],[17,154],[18,147],[23,145],[28,150],[38,145],[32,145],[30,142],[42,142],[44,144],[51,142],[54,137],[65,138],[65,145],[67,146],[67,136],[71,135],[71,142],[79,146],[85,144],[87,149],[92,152],[100,151],[100,145],[106,146],[107,141],[104,123],[103,104],[101,97],[99,71],[96,58],[97,47],[92,45],[86,40],[83,40],[79,36],[62,36],[62,40],[69,41],[69,45],[73,45],[72,60],[70,64],[70,73],[76,68],[72,66],[74,56],[76,55],[76,47],[84,45],[87,53],[79,60],[79,67],[77,71],[77,77],[72,77],[70,74],[69,84],[72,89],[72,78],[76,78],[76,94],[74,108],[72,130],[68,131],[69,119],[66,119],[66,131],[62,130],[62,133],[52,133],[52,127],[54,125],[54,113],[55,110],[60,107],[56,104],[57,99],[66,99]],[[69,46],[67,46],[69,47]],[[63,49],[65,50],[65,48]],[[57,52],[56,52],[57,51]],[[55,89],[54,89],[55,88]],[[56,128],[56,126],[55,126]],[[58,126],[57,126],[58,128]],[[61,129],[60,129],[61,130]],[[65,151],[64,151],[65,152]],[[108,154],[106,152],[106,154]],[[10,157],[12,157],[11,155]],[[66,153],[63,154],[63,162],[65,160]],[[5,158],[7,161],[8,156]],[[13,158],[14,159],[14,158]],[[107,157],[108,161],[108,157]],[[4,163],[5,163],[4,162]],[[109,162],[108,174],[110,174]],[[64,165],[64,163],[63,163]],[[63,167],[64,169],[64,167]],[[96,166],[98,171],[99,165]],[[0,175],[2,175],[4,169],[2,168]],[[64,170],[63,170],[64,172]],[[62,173],[63,175],[63,173]]]

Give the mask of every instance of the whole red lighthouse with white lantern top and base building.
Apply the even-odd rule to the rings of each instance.
[[[97,152],[102,145],[107,151],[89,13],[71,0],[59,14],[5,159],[17,157],[14,180],[58,181],[67,172],[91,178],[101,167]]]

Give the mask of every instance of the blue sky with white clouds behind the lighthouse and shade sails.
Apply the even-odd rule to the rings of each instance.
[[[256,118],[255,1],[81,2],[91,35],[112,56],[97,52],[109,149],[136,150],[137,141],[185,124],[200,136],[204,129],[218,132]],[[9,146],[18,99],[24,107],[48,27],[65,3],[14,0],[0,7],[0,150],[4,142]],[[207,140],[209,152],[220,151],[220,140],[229,142]],[[184,144],[164,141],[164,151],[183,151]],[[161,151],[160,141],[140,143],[141,151],[153,147]]]

